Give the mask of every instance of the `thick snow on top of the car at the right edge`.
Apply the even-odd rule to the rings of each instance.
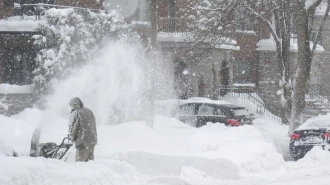
[[[320,115],[308,119],[305,123],[300,125],[296,130],[306,130],[306,129],[320,129],[327,128],[330,129],[330,114]]]

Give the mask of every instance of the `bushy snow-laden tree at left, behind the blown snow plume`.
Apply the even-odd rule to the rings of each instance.
[[[72,67],[92,60],[102,41],[127,28],[115,13],[86,9],[49,9],[37,28],[34,44],[39,48],[34,71],[37,92],[47,92],[49,82]]]

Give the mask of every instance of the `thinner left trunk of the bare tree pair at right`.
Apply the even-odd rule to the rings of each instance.
[[[282,76],[280,83],[282,88],[282,121],[288,124],[292,104],[292,79],[290,76],[291,2],[285,0],[246,1],[244,6],[268,28],[275,40],[277,64]]]

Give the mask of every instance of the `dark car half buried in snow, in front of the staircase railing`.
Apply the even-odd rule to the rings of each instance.
[[[233,104],[185,103],[179,107],[175,117],[196,127],[206,125],[207,122],[223,123],[227,126],[252,125],[251,116],[245,107]]]

